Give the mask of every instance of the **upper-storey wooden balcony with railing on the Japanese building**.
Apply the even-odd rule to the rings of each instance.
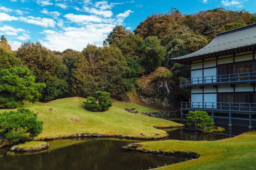
[[[246,72],[246,73],[235,73],[235,74],[224,74],[215,75],[207,77],[197,77],[197,78],[186,78],[181,79],[180,87],[202,87],[202,86],[213,86],[228,84],[233,86],[234,84],[248,83],[254,85],[256,83],[256,72]]]

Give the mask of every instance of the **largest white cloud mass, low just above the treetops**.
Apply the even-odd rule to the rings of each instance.
[[[41,43],[49,49],[63,51],[67,48],[81,51],[86,45],[102,45],[103,39],[115,27],[114,24],[89,24],[86,27],[67,27],[61,31],[45,30]]]

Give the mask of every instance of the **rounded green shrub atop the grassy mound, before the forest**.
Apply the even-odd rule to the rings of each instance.
[[[88,96],[87,100],[83,102],[85,104],[86,110],[93,112],[103,112],[108,110],[114,102],[110,99],[110,93],[108,92],[97,91],[95,96],[96,97]]]

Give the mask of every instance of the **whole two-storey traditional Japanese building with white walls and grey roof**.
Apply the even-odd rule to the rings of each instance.
[[[181,102],[181,116],[202,110],[229,126],[256,125],[256,23],[215,34],[204,48],[175,63],[191,66],[181,88],[191,89],[190,102]]]

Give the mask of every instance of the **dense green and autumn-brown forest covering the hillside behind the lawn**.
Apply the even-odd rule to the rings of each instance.
[[[131,90],[167,97],[178,106],[189,96],[188,91],[179,88],[180,78],[189,77],[189,67],[173,64],[169,58],[201,49],[215,33],[255,22],[256,14],[245,10],[216,8],[187,15],[171,8],[166,14],[148,16],[133,32],[116,26],[103,41],[103,47],[88,44],[81,52],[51,51],[40,42],[25,42],[12,51],[3,35],[0,108],[15,108],[24,100],[93,96],[96,91],[107,91],[113,98],[125,99],[126,92]],[[154,87],[141,88],[137,79],[158,67],[170,71],[155,75],[152,81],[167,81],[151,94]]]

